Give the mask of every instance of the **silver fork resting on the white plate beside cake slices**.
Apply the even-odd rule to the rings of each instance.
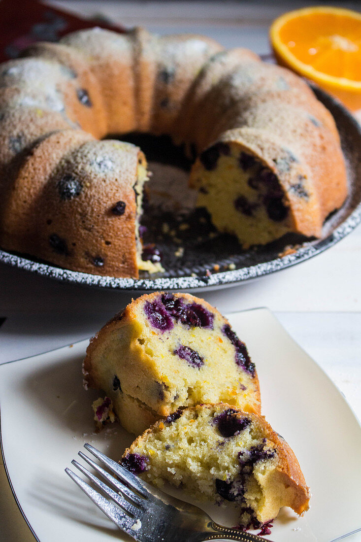
[[[116,476],[96,464],[82,451],[80,457],[117,491],[108,487],[78,461],[72,464],[85,474],[103,495],[66,468],[65,472],[118,527],[139,542],[203,542],[205,540],[238,540],[238,542],[265,542],[265,538],[248,532],[218,525],[200,508],[183,502],[154,488],[127,469],[109,459],[91,444],[84,447]],[[271,542],[271,541],[269,541]]]

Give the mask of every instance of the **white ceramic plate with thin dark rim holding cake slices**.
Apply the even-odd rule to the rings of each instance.
[[[345,399],[267,309],[229,320],[256,363],[263,414],[295,451],[313,494],[303,518],[282,510],[270,538],[329,542],[360,528],[361,427]],[[0,366],[4,464],[41,542],[131,540],[64,472],[85,442],[119,459],[133,440],[119,425],[93,433],[98,394],[81,386],[87,344]],[[209,511],[216,521],[230,521],[220,508]]]

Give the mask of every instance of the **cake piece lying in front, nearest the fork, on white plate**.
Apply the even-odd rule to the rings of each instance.
[[[297,514],[309,507],[287,442],[263,416],[230,405],[176,410],[140,435],[120,464],[157,486],[169,482],[197,499],[231,502],[246,527],[272,520],[282,506]]]

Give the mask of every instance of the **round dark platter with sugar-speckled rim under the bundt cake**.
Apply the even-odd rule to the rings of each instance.
[[[0,261],[59,281],[96,288],[197,291],[235,286],[294,266],[323,252],[349,234],[361,221],[361,128],[337,100],[318,88],[314,88],[314,92],[336,120],[350,186],[345,204],[325,221],[320,239],[305,242],[305,238],[282,238],[268,246],[245,251],[234,237],[218,234],[202,212],[183,212],[175,219],[173,213],[153,207],[145,219],[145,241],[155,242],[162,251],[165,273],[149,275],[143,272],[138,280],[92,275],[61,269],[3,250],[0,250]],[[134,142],[140,144],[146,156],[152,160],[149,154],[152,150],[143,145],[146,145],[146,141],[136,139]],[[171,147],[169,154],[172,154]],[[173,166],[180,166],[186,179],[189,164],[179,163],[177,152],[173,158]],[[159,157],[154,159],[159,161]],[[298,248],[292,254],[280,257],[290,244]]]

